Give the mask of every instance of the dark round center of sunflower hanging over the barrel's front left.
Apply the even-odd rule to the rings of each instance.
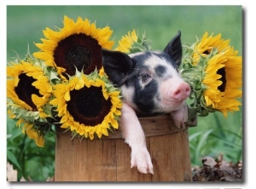
[[[67,111],[74,121],[95,126],[102,123],[111,108],[111,101],[105,100],[102,88],[90,87],[70,91]]]

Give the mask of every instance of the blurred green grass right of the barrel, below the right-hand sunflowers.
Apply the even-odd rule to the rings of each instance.
[[[192,165],[201,165],[201,158],[217,158],[236,163],[242,160],[241,112],[223,118],[218,112],[199,117],[198,125],[189,129],[190,158]]]

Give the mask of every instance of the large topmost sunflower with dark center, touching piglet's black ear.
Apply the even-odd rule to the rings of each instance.
[[[63,77],[66,72],[73,76],[78,70],[84,69],[85,74],[90,74],[96,68],[102,68],[102,48],[112,49],[113,41],[109,41],[112,32],[109,26],[96,28],[90,20],[82,20],[81,17],[75,22],[64,16],[63,28],[53,31],[46,28],[43,43],[35,43],[40,52],[33,55],[45,61],[47,66],[53,66]]]

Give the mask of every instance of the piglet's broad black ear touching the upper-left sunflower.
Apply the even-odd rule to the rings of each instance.
[[[131,57],[119,51],[105,49],[102,49],[102,56],[104,71],[112,83],[120,87],[134,66]]]

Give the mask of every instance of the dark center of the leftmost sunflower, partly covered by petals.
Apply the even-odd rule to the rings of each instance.
[[[32,86],[32,83],[36,81],[33,77],[26,76],[26,73],[21,73],[19,75],[19,83],[15,88],[15,93],[18,95],[19,99],[24,101],[28,106],[32,107],[32,111],[38,111],[37,106],[32,102],[32,94],[39,94],[39,90]]]

